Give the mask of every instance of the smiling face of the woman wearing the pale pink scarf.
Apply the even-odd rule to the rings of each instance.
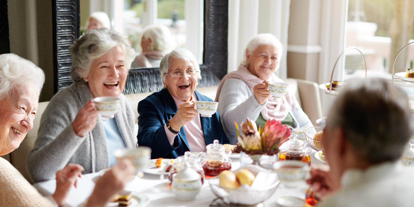
[[[272,45],[258,46],[253,52],[246,50],[248,70],[262,80],[266,80],[279,63],[279,51]]]

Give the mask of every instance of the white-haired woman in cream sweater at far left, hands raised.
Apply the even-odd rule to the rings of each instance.
[[[0,55],[0,155],[19,147],[39,106],[39,94],[45,82],[43,71],[29,60],[15,54]],[[2,207],[63,206],[77,176],[83,170],[79,164],[67,164],[56,173],[56,190],[43,197],[24,179],[10,162],[0,158],[0,205]],[[106,206],[108,200],[129,181],[134,168],[130,161],[122,161],[115,171],[96,181],[87,207]]]

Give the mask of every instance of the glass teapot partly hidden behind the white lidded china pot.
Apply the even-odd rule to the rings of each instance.
[[[200,164],[200,159],[195,156],[191,156],[191,152],[187,151],[184,155],[177,157],[174,162],[168,162],[168,164],[163,168],[161,174],[159,175],[161,181],[171,185],[173,177],[178,171],[184,170],[185,168],[192,168],[201,176],[201,183],[204,183],[204,170]],[[165,179],[165,175],[168,175],[168,179]]]

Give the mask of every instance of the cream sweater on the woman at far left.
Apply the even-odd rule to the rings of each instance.
[[[0,158],[0,207],[56,207],[30,185],[7,160]]]

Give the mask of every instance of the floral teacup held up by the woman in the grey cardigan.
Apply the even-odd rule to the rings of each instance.
[[[102,96],[94,98],[96,110],[102,117],[113,118],[120,107],[120,101],[116,97]]]

